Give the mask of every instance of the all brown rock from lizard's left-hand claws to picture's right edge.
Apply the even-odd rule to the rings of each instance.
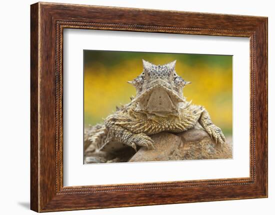
[[[141,147],[129,162],[232,158],[230,138],[220,147],[204,130],[191,129],[179,134],[163,132],[151,138],[155,149]]]

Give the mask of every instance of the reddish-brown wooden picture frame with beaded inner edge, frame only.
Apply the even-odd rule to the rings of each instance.
[[[267,17],[59,3],[30,7],[30,208],[36,212],[267,197]],[[63,187],[63,29],[250,38],[250,177]]]

